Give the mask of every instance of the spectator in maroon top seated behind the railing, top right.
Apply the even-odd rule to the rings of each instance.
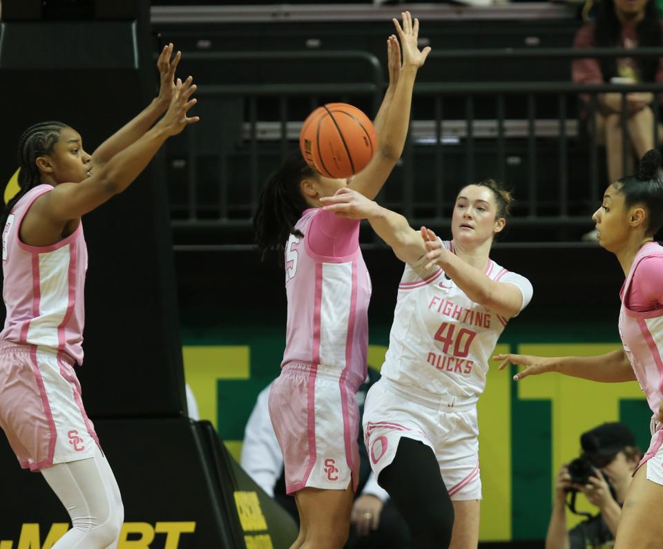
[[[578,30],[574,47],[660,47],[663,46],[661,24],[656,0],[601,0],[597,3],[595,21],[586,23]],[[661,82],[662,61],[663,58],[656,57],[575,59],[572,66],[573,81],[577,84]],[[653,100],[652,93],[626,94],[628,142],[637,158],[654,148]],[[588,96],[583,97],[583,101],[588,103]],[[606,146],[608,184],[623,177],[624,173],[633,171],[633,166],[623,166],[621,113],[621,93],[599,95],[595,138],[599,144]],[[663,128],[658,122],[656,125],[661,141]],[[633,155],[628,155],[626,160],[632,164]]]

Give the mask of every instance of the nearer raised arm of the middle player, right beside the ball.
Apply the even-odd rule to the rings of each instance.
[[[398,77],[394,98],[386,110],[384,122],[381,123],[383,126],[377,150],[368,165],[355,175],[349,184],[351,189],[359,191],[371,200],[382,189],[403,153],[407,127],[410,124],[410,105],[412,104],[412,88],[414,88],[416,71],[423,66],[430,52],[428,47],[420,52],[416,46],[419,21],[414,19],[413,25],[410,12],[403,12],[401,15],[403,28],[394,19],[398,39],[403,47],[403,67]]]

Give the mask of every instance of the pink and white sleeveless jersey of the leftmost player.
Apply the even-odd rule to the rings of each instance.
[[[17,202],[2,233],[3,300],[7,308],[0,341],[57,349],[83,363],[83,289],[88,251],[83,224],[50,246],[21,242],[19,229],[32,203],[53,187],[41,184]]]

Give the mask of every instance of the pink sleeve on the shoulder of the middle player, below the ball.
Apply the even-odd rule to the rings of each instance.
[[[318,256],[350,256],[359,247],[359,220],[339,218],[321,209],[311,220],[307,238],[309,247]]]

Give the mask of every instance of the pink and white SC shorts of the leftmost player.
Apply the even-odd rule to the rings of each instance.
[[[24,469],[93,457],[99,445],[66,354],[0,344],[0,427]]]

